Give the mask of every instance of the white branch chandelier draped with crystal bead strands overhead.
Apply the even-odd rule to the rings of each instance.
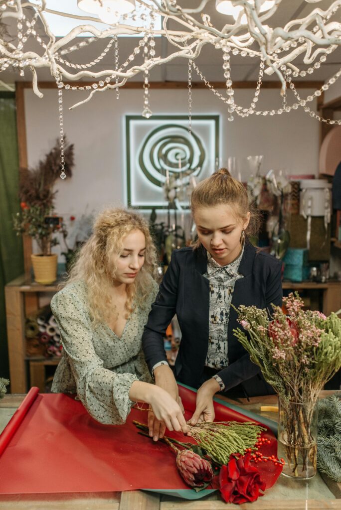
[[[78,0],[80,9],[86,11],[84,16],[51,11],[46,7],[45,0],[0,0],[1,27],[8,18],[15,18],[17,35],[14,40],[6,36],[6,30],[0,30],[0,71],[14,67],[23,75],[28,68],[32,73],[33,90],[42,97],[38,88],[37,69],[49,68],[58,86],[58,100],[60,112],[60,136],[63,162],[63,91],[85,90],[87,97],[75,104],[75,108],[86,103],[97,92],[115,89],[119,97],[119,88],[127,80],[141,73],[143,75],[143,111],[142,115],[149,118],[152,115],[149,98],[149,73],[157,65],[167,64],[174,59],[186,59],[188,62],[188,106],[189,130],[191,126],[191,80],[192,70],[195,70],[205,85],[224,103],[230,113],[229,120],[235,115],[248,117],[249,115],[275,115],[288,113],[299,107],[321,122],[341,124],[339,120],[324,119],[309,108],[309,103],[327,90],[341,75],[339,69],[321,89],[316,90],[306,98],[301,98],[293,79],[312,74],[315,69],[325,62],[339,45],[341,45],[341,0],[330,2],[326,10],[316,7],[322,0],[305,0],[311,6],[311,12],[300,19],[291,20],[283,27],[270,28],[267,22],[276,13],[282,0],[216,0],[215,8],[220,13],[221,27],[214,27],[210,16],[205,13],[207,4],[214,0],[199,0],[195,9],[186,8],[185,0],[182,6],[177,0]],[[71,0],[70,0],[71,2]],[[76,0],[74,0],[76,3]],[[283,4],[285,0],[283,0]],[[138,8],[139,26],[131,24],[136,21]],[[51,32],[45,13],[55,13],[74,17],[80,24],[67,35],[56,39]],[[87,15],[86,13],[90,13]],[[91,16],[96,15],[96,17]],[[98,17],[97,17],[98,16]],[[155,20],[162,17],[162,28],[155,28]],[[35,28],[40,18],[44,34],[38,34]],[[103,30],[98,30],[91,22],[102,21]],[[231,22],[233,21],[233,22]],[[111,25],[108,27],[108,25]],[[91,33],[93,37],[76,42],[76,36]],[[139,42],[132,54],[125,62],[119,63],[118,38],[119,35],[138,35]],[[165,37],[171,48],[165,57],[156,55],[155,36]],[[35,38],[41,52],[25,51],[29,38]],[[93,40],[104,39],[106,46],[101,55],[91,62],[75,64],[65,59],[65,55],[90,44]],[[202,48],[210,44],[217,50],[217,61],[221,60],[226,80],[226,91],[215,90],[204,77],[195,63]],[[107,56],[111,46],[114,46],[113,69],[95,72],[89,70]],[[250,105],[245,108],[234,100],[233,82],[231,77],[231,54],[241,57],[254,57],[259,60],[259,74],[257,87]],[[303,64],[298,64],[299,57]],[[76,72],[72,73],[74,69]],[[256,109],[260,93],[263,73],[275,74],[281,82],[282,105],[278,110],[259,111]],[[95,80],[92,85],[72,86],[72,82],[80,79]],[[64,83],[66,82],[66,83]],[[71,83],[67,83],[71,82]],[[287,104],[286,90],[290,88],[295,96],[295,103]],[[62,172],[62,176],[64,172]]]

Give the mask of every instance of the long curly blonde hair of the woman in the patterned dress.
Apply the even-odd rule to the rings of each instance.
[[[92,236],[82,246],[72,266],[67,283],[78,280],[86,283],[93,323],[109,321],[115,311],[110,290],[116,268],[110,261],[122,251],[123,239],[135,230],[145,237],[145,262],[134,282],[127,285],[127,317],[136,307],[144,309],[146,297],[153,288],[157,256],[148,222],[134,211],[110,208],[100,213],[94,221]]]

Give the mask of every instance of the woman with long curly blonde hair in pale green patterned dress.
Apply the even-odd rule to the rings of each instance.
[[[141,337],[157,293],[148,223],[124,209],[95,220],[67,285],[51,301],[62,358],[52,391],[77,393],[105,424],[125,423],[135,401],[150,404],[169,430],[187,431],[180,405],[151,384]]]

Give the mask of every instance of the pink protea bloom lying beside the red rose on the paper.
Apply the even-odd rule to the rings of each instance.
[[[211,464],[192,450],[182,450],[177,454],[177,466],[185,482],[191,487],[203,487],[212,480],[214,473]]]

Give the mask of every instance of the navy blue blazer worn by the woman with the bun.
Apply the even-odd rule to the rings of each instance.
[[[246,239],[238,270],[244,277],[235,282],[234,307],[245,304],[271,310],[271,303],[281,305],[281,267],[281,261],[258,251]],[[142,336],[145,360],[151,371],[156,363],[166,360],[163,337],[169,322],[177,314],[182,339],[175,375],[177,380],[194,388],[202,384],[208,350],[209,281],[203,276],[206,271],[207,252],[203,247],[173,251]],[[227,338],[229,366],[218,372],[226,390],[260,371],[233,334],[233,329],[238,326],[241,327],[237,313],[231,306]]]

